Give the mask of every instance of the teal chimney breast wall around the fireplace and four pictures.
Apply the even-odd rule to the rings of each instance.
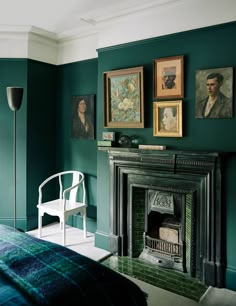
[[[198,29],[161,38],[98,50],[98,123],[99,135],[112,130],[138,135],[144,144],[163,144],[169,149],[236,152],[235,81],[232,119],[195,119],[195,72],[199,69],[236,67],[236,23]],[[153,134],[153,60],[184,55],[183,138],[154,137]],[[104,129],[103,79],[106,71],[144,66],[144,129]],[[226,286],[236,290],[236,160],[228,161],[224,173],[223,209],[226,210],[227,271]],[[97,232],[96,244],[109,248],[109,166],[106,153],[97,159]],[[99,190],[103,192],[99,193]]]

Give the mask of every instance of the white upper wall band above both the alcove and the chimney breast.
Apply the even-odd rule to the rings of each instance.
[[[222,12],[224,13],[222,14]],[[137,22],[137,20],[140,22]],[[100,48],[232,21],[236,21],[235,0],[175,2],[172,3],[171,7],[163,6],[161,9],[152,9],[113,22],[104,22],[95,27],[97,33],[92,36],[84,33],[83,36],[59,40],[58,64],[96,57],[97,53],[95,51]]]

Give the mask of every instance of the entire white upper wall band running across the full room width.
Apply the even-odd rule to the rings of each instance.
[[[214,0],[214,12],[209,1],[188,0],[184,8],[181,3],[176,2],[171,9],[163,7],[104,22],[90,33],[63,39],[35,27],[0,27],[0,58],[29,58],[62,65],[96,58],[99,48],[236,20],[235,0]]]

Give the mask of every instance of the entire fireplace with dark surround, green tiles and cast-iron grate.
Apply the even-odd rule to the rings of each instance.
[[[104,148],[110,162],[110,251],[223,287],[223,156]]]

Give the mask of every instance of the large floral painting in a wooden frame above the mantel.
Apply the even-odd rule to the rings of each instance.
[[[143,67],[104,72],[104,127],[144,127]]]

